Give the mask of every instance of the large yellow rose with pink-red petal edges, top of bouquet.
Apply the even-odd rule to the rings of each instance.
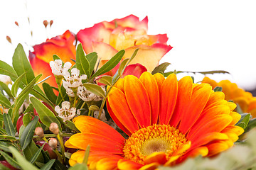
[[[130,64],[142,64],[151,72],[172,47],[166,45],[166,34],[147,35],[147,23],[147,17],[139,21],[137,16],[130,15],[80,30],[77,37],[85,53],[97,52],[101,59],[100,66],[119,50],[125,50],[125,59],[131,57],[134,50],[139,48],[137,56]]]

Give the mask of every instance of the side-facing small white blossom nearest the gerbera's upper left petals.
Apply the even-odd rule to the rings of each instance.
[[[102,88],[103,89],[103,88]],[[105,89],[103,89],[105,91]],[[101,101],[102,97],[93,94],[88,91],[85,86],[79,86],[77,91],[78,96],[82,99],[82,101]]]

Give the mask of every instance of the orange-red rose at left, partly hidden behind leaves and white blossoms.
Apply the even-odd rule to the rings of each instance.
[[[74,64],[71,60],[75,60],[76,52],[74,41],[75,35],[69,30],[66,30],[63,35],[58,35],[39,45],[34,45],[34,51],[29,52],[28,56],[33,72],[36,75],[43,73],[41,79],[51,76],[46,80],[46,83],[50,84],[50,86],[57,87],[49,62],[53,60],[53,55],[58,55],[63,62],[71,62]]]

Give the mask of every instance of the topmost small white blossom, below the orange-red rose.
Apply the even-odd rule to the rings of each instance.
[[[70,62],[65,62],[63,66],[63,62],[61,60],[50,61],[50,68],[55,76],[63,76],[63,72],[68,72],[70,67],[72,67]]]

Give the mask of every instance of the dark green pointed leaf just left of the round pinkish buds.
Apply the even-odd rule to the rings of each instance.
[[[26,149],[28,144],[31,142],[33,138],[34,131],[36,129],[36,124],[38,123],[39,117],[35,116],[33,120],[26,126],[21,135],[21,149]]]

